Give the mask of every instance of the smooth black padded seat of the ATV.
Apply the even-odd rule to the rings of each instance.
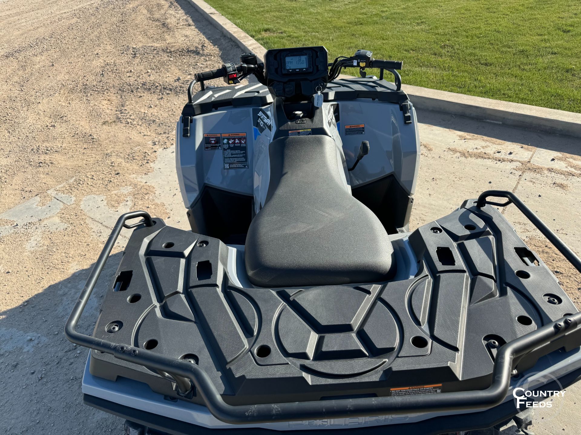
[[[335,141],[270,144],[266,204],[246,236],[246,272],[259,287],[385,280],[393,247],[379,219],[347,190]]]

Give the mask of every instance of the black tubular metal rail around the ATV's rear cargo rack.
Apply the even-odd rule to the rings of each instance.
[[[503,197],[507,198],[508,201],[499,204],[487,201],[487,197]],[[488,190],[482,193],[474,204],[477,208],[483,208],[486,204],[503,207],[515,204],[555,248],[581,272],[581,260],[579,257],[513,193]],[[144,220],[134,224],[125,223],[127,220],[135,218],[144,218]],[[98,339],[75,330],[121,229],[124,227],[131,229],[141,225],[153,226],[155,225],[155,220],[144,211],[125,213],[117,219],[105,247],[71,311],[64,333],[67,339],[77,345],[112,354],[120,360],[155,370],[160,375],[175,382],[184,396],[195,389],[194,392],[200,394],[211,414],[223,422],[246,424],[490,408],[504,401],[510,387],[511,376],[516,374],[514,367],[516,367],[523,355],[533,352],[536,357],[540,357],[560,349],[564,346],[565,336],[568,340],[571,340],[568,343],[569,349],[581,346],[581,312],[579,312],[550,322],[536,331],[501,346],[494,360],[493,382],[484,390],[418,394],[413,396],[360,397],[277,404],[229,405],[224,402],[209,376],[198,365],[191,364],[191,362],[185,360],[163,356],[150,350]]]

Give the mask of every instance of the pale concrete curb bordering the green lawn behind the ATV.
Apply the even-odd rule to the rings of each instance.
[[[232,21],[203,0],[188,0],[202,16],[236,42],[245,52],[256,53],[264,60],[266,49]],[[348,76],[344,76],[348,77]],[[554,135],[581,138],[581,113],[555,110],[528,104],[504,102],[460,93],[402,85],[415,108],[460,115]]]

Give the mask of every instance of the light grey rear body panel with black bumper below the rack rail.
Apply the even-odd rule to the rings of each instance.
[[[169,434],[314,434],[321,430],[351,435],[358,433],[381,434],[441,434],[462,430],[485,429],[505,422],[520,411],[515,407],[512,389],[519,379],[511,383],[507,397],[500,405],[480,411],[429,412],[391,416],[366,416],[293,422],[254,423],[232,425],[224,423],[202,406],[187,401],[166,400],[154,393],[148,385],[136,380],[117,378],[116,382],[93,376],[89,372],[89,360],[83,376],[83,401],[109,414]],[[537,365],[523,374],[528,390],[558,391],[581,380],[581,349],[567,353],[555,352],[542,357]],[[522,379],[522,378],[521,378]],[[557,381],[553,380],[557,379]],[[521,380],[522,382],[522,380]],[[534,400],[532,398],[532,400]],[[325,432],[322,432],[324,434]],[[328,432],[331,433],[331,432]]]

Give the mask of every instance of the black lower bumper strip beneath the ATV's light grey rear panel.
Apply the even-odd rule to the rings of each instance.
[[[563,388],[566,388],[580,379],[581,368],[578,368],[562,376],[559,379],[559,382]],[[558,385],[557,382],[553,381],[535,389],[535,391],[559,390],[561,386]],[[153,412],[142,411],[141,409],[120,405],[100,397],[91,396],[90,394],[83,394],[83,401],[85,404],[97,409],[101,409],[102,411],[109,412],[109,414],[113,414],[132,422],[139,423],[152,429],[161,430],[172,435],[191,435],[194,433],[196,435],[272,435],[280,433],[279,430],[264,429],[261,427],[236,426],[230,429],[210,429],[209,427],[193,425],[192,423],[169,418],[167,416],[153,414]],[[340,433],[345,435],[385,435],[386,430],[389,430],[389,433],[392,435],[437,435],[447,432],[460,432],[462,430],[485,429],[487,427],[492,427],[499,423],[505,422],[508,419],[511,419],[518,412],[519,409],[515,408],[514,402],[512,400],[508,400],[494,408],[486,409],[485,411],[436,416],[419,422],[390,425],[389,429],[387,429],[385,425],[371,426],[370,422],[365,420],[365,418],[352,418],[349,419],[352,420],[350,425],[352,427],[342,429]],[[313,420],[310,422],[302,423],[303,424],[300,425],[302,426],[301,429],[286,430],[284,432],[285,435],[314,435],[315,433],[317,435],[321,435],[320,429],[310,429],[310,425],[317,425],[317,421]]]

